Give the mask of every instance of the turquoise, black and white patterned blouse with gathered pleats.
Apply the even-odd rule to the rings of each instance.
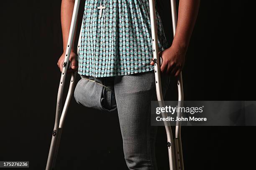
[[[159,51],[168,48],[156,11]],[[130,75],[154,70],[148,0],[85,0],[78,74]]]

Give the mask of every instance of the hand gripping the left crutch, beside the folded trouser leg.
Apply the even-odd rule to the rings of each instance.
[[[63,54],[59,57],[59,61],[57,63],[61,72],[63,69],[64,60],[65,60],[65,53],[63,52]],[[71,68],[67,70],[67,73],[74,72],[77,70],[77,64],[78,64],[77,55],[74,52],[70,52],[69,64],[71,64]]]

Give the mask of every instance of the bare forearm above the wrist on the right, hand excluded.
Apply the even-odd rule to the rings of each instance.
[[[200,0],[179,0],[177,28],[172,45],[187,49],[199,5]]]

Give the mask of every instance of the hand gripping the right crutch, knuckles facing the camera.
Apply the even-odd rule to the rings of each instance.
[[[186,48],[171,46],[159,52],[159,59],[160,56],[163,59],[160,72],[177,77],[184,67],[186,51]],[[151,61],[150,65],[154,65],[154,62]]]

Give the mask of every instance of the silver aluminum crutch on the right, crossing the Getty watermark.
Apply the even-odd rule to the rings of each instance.
[[[154,0],[149,0],[150,8],[150,20],[151,20],[151,35],[152,35],[152,44],[153,44],[153,56],[154,56],[154,70],[155,70],[155,83],[156,83],[156,95],[159,102],[159,107],[165,107],[164,99],[161,89],[161,77],[160,77],[160,65],[157,61],[159,60],[159,49],[157,44],[157,32],[156,32],[156,12],[154,6]],[[176,2],[171,0],[171,10],[172,10],[172,26],[173,26],[173,35],[175,35],[177,27],[177,12],[176,12]],[[161,62],[161,61],[160,61]],[[178,107],[183,105],[183,85],[182,85],[182,73],[179,74],[178,80]],[[166,118],[168,115],[166,112],[161,112],[162,117]],[[182,112],[177,112],[177,117],[181,117]],[[173,141],[172,129],[170,123],[164,121],[164,126],[167,135],[167,146],[169,147],[169,166],[170,170],[184,170],[183,165],[183,155],[182,155],[182,142],[181,142],[181,122],[176,122],[175,128],[175,139]]]

